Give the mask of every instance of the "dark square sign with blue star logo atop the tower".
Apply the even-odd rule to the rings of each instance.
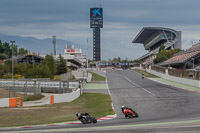
[[[90,20],[103,20],[103,8],[90,8]]]

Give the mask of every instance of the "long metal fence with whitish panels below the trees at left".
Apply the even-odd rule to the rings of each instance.
[[[8,97],[37,95],[41,93],[70,93],[79,88],[79,81],[0,80],[0,88],[8,91]]]

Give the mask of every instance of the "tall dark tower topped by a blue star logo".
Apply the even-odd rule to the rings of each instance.
[[[93,28],[93,60],[101,60],[101,30],[103,28],[103,8],[90,8],[90,28]]]

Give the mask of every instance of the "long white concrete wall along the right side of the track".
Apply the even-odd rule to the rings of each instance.
[[[200,81],[199,80],[174,77],[174,76],[168,75],[167,73],[162,74],[162,73],[150,70],[150,69],[147,69],[146,71],[148,73],[154,74],[154,75],[161,77],[163,79],[166,79],[166,80],[170,80],[170,81],[174,81],[174,82],[182,83],[182,84],[187,84],[187,85],[191,85],[191,86],[195,86],[195,87],[200,87]]]

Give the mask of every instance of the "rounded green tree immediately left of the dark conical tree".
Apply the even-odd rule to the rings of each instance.
[[[56,74],[56,62],[52,55],[46,55],[43,64],[49,67],[52,76]]]

